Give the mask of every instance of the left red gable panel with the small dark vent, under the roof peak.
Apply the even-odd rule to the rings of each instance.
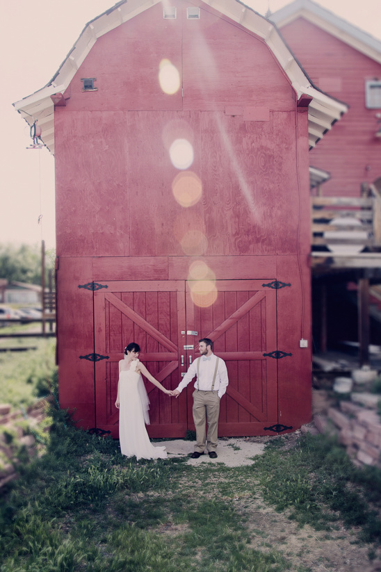
[[[76,111],[181,109],[181,89],[161,89],[164,59],[181,79],[181,19],[163,19],[158,3],[97,39],[70,84],[69,105]],[[96,77],[97,91],[83,93],[82,77]]]

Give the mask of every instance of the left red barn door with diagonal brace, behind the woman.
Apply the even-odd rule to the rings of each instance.
[[[97,427],[118,436],[115,408],[118,362],[127,343],[140,345],[141,361],[168,389],[179,380],[180,327],[185,324],[184,281],[107,281],[94,293]],[[186,434],[186,403],[145,382],[151,406],[149,435]]]

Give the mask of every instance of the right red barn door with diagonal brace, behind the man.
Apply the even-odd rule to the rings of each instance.
[[[268,434],[266,427],[277,424],[277,359],[272,354],[277,350],[276,291],[263,280],[217,281],[218,295],[209,305],[207,296],[194,295],[190,288],[187,284],[187,332],[197,332],[197,341],[211,338],[229,374],[218,434]],[[191,345],[189,335],[187,343]],[[197,355],[188,352],[188,363]],[[192,428],[193,385],[187,390]]]

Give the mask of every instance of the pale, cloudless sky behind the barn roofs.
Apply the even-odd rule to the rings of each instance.
[[[47,149],[26,149],[29,126],[12,104],[44,87],[87,22],[115,1],[0,0],[0,243],[44,239],[47,247],[55,246],[54,157]],[[381,0],[315,1],[381,40]],[[264,14],[269,5],[275,12],[289,1],[245,3]]]

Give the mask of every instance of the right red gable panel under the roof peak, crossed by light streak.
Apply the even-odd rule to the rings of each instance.
[[[201,3],[200,20],[183,18],[184,110],[248,106],[289,111],[293,89],[266,44]],[[184,6],[185,8],[185,6]]]

